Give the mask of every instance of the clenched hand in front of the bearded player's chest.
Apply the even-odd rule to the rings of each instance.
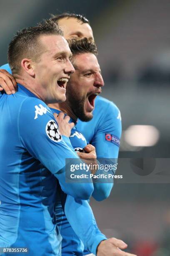
[[[86,153],[77,152],[77,154],[81,159],[83,159],[86,162],[86,164],[92,166],[92,168],[90,168],[90,171],[92,174],[95,174],[95,172],[98,169],[95,147],[92,146],[91,144],[88,144],[87,146],[84,147],[84,150]]]

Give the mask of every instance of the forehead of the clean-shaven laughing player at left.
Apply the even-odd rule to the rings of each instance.
[[[43,35],[39,38],[46,51],[50,54],[55,54],[60,51],[65,51],[68,54],[71,53],[67,41],[60,35]]]

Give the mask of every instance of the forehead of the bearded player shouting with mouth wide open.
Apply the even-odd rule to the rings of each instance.
[[[94,71],[100,71],[100,66],[97,61],[97,58],[92,53],[84,53],[84,54],[78,54],[75,57],[73,57],[73,63],[76,66],[76,69],[79,69],[80,72],[83,72],[83,70],[86,69],[92,69]]]

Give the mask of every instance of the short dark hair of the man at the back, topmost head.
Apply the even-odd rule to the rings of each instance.
[[[52,16],[52,20],[54,22],[58,22],[58,20],[61,20],[63,18],[75,18],[77,20],[80,20],[80,22],[82,23],[88,23],[90,24],[89,20],[87,20],[87,18],[85,18],[83,15],[81,14],[75,14],[75,13],[61,13],[61,14],[51,14]]]

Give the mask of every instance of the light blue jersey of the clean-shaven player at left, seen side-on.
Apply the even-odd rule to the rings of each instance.
[[[60,135],[50,108],[22,85],[1,96],[0,134],[0,247],[60,256],[56,180],[71,200],[90,198],[92,183],[65,183],[65,158],[81,160]]]

